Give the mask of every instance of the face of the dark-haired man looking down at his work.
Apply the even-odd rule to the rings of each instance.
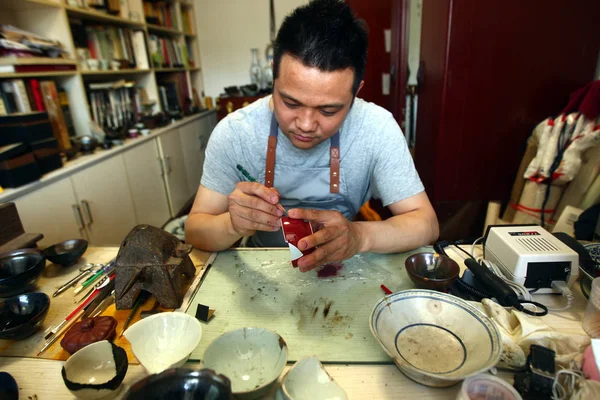
[[[281,131],[303,150],[329,139],[350,111],[353,83],[351,68],[324,72],[284,54],[273,87],[273,109]]]

